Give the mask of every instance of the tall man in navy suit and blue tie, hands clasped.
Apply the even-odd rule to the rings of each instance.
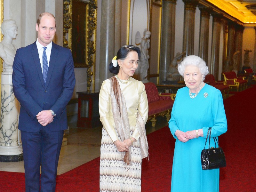
[[[52,192],[75,87],[74,62],[69,49],[52,42],[56,20],[51,13],[39,15],[36,31],[36,42],[16,52],[12,84],[20,102],[26,192]]]

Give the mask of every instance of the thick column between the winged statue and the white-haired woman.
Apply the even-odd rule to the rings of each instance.
[[[175,8],[176,0],[163,1],[159,84],[166,81],[168,67],[174,57]]]

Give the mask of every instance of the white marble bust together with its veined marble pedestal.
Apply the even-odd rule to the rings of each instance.
[[[12,44],[12,39],[18,34],[15,20],[4,20],[1,31],[4,39],[0,42],[0,57],[4,60],[4,71],[1,74],[0,160],[17,162],[21,161],[23,156],[18,144],[20,105],[12,88],[12,64],[17,50]]]

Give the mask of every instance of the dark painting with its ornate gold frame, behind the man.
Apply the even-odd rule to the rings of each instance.
[[[63,46],[71,50],[74,67],[88,68],[89,91],[94,81],[97,0],[63,0],[63,5]]]

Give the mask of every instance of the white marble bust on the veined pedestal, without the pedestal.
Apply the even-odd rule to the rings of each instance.
[[[12,39],[17,36],[17,25],[15,20],[4,20],[1,25],[1,32],[4,35],[0,42],[0,57],[4,60],[4,72],[12,73],[12,64],[17,50],[16,45],[12,44]]]

